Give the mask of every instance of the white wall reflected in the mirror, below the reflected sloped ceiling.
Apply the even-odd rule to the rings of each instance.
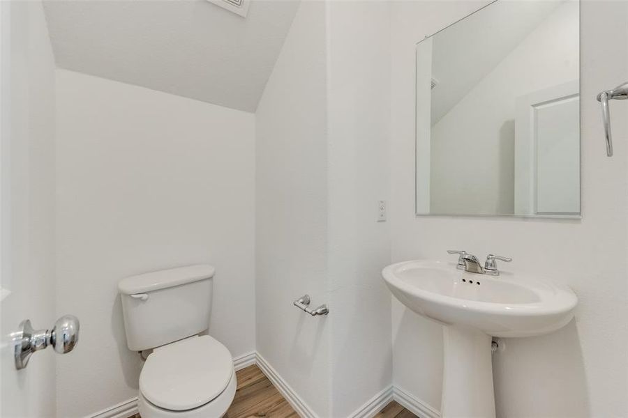
[[[578,79],[578,21],[555,8],[433,125],[431,212],[514,213],[516,99]]]

